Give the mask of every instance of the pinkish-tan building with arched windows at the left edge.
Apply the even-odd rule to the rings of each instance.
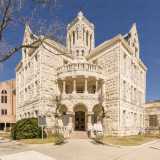
[[[10,130],[16,123],[16,79],[0,83],[0,130]]]

